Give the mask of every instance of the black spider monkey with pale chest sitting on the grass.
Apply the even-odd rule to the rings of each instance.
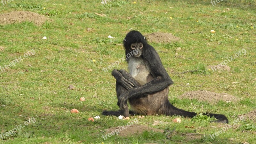
[[[174,107],[168,100],[169,86],[172,79],[166,72],[156,50],[147,43],[145,37],[138,31],[130,31],[124,41],[126,60],[130,73],[124,69],[112,71],[116,78],[117,105],[119,111],[103,111],[103,115],[119,116],[141,114],[166,116],[196,116],[195,112]],[[129,111],[127,100],[132,111]],[[214,122],[228,123],[226,116],[206,113],[214,116]]]

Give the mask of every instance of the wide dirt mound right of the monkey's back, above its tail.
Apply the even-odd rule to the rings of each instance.
[[[209,103],[217,103],[218,101],[236,102],[239,99],[228,93],[215,93],[210,91],[190,91],[179,96],[181,99],[197,99],[199,101],[207,101]]]

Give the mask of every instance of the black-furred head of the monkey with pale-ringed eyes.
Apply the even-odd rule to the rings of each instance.
[[[144,47],[147,45],[147,40],[138,31],[130,31],[124,38],[124,48],[126,53],[130,53],[134,57],[140,57]]]

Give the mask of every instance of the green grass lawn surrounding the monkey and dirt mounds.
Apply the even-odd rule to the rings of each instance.
[[[182,41],[168,44],[150,43],[159,53],[175,85],[203,85],[202,87],[171,87],[169,100],[178,108],[192,111],[212,111],[228,117],[234,124],[239,114],[256,108],[255,0],[221,1],[101,1],[56,0],[33,2],[28,0],[0,3],[1,13],[31,11],[51,19],[42,26],[31,22],[0,25],[0,66],[9,64],[24,53],[35,50],[6,71],[0,71],[0,130],[12,130],[24,125],[28,118],[36,122],[23,127],[15,135],[0,143],[242,143],[255,142],[253,122],[238,122],[225,133],[209,136],[223,124],[191,121],[181,118],[181,124],[152,126],[173,129],[178,133],[170,140],[165,133],[143,132],[129,137],[112,136],[104,140],[101,130],[125,125],[128,121],[102,116],[103,109],[117,110],[115,80],[110,70],[116,60],[124,56],[122,40],[131,29],[142,34],[172,33]],[[228,10],[228,9],[229,10]],[[225,12],[224,12],[225,11]],[[104,13],[106,17],[95,14]],[[172,19],[170,18],[172,17]],[[216,33],[210,33],[214,29]],[[108,39],[111,35],[115,39]],[[47,40],[41,40],[47,36]],[[181,51],[176,51],[181,47]],[[207,69],[246,50],[245,55],[228,62],[231,72]],[[168,52],[163,53],[160,51]],[[178,53],[178,56],[175,53]],[[30,66],[29,66],[30,65]],[[115,65],[127,69],[125,61]],[[175,72],[199,71],[178,76]],[[27,69],[27,71],[25,71]],[[232,82],[238,82],[233,84]],[[75,90],[67,89],[72,84]],[[226,92],[240,98],[237,103],[210,104],[196,100],[181,100],[178,96],[192,90]],[[79,98],[85,97],[84,102]],[[78,114],[70,114],[76,108]],[[87,118],[100,115],[96,122]],[[131,117],[134,119],[136,117]],[[151,126],[154,121],[172,122],[175,116],[146,116],[139,124]],[[248,124],[249,123],[249,124]],[[195,126],[185,128],[184,126]],[[217,128],[212,128],[215,126]],[[185,140],[181,133],[204,133],[200,139]],[[234,140],[230,140],[233,138]]]

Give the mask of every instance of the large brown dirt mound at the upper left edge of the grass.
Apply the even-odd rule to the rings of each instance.
[[[28,11],[15,11],[0,14],[0,25],[23,21],[32,21],[36,25],[42,25],[46,20],[49,20],[49,18],[38,13]]]

